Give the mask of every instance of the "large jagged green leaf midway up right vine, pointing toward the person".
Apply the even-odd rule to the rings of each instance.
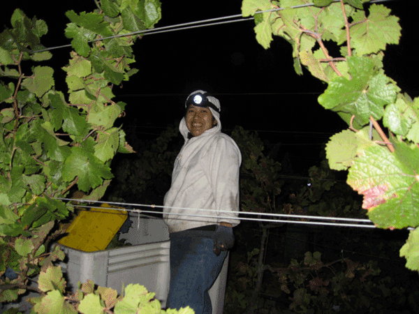
[[[329,82],[328,89],[318,97],[318,103],[336,112],[355,114],[355,121],[364,126],[369,116],[381,119],[383,107],[392,103],[396,88],[390,79],[377,73],[374,62],[367,57],[347,57],[352,79],[337,77]]]

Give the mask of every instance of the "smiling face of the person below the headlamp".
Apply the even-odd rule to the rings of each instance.
[[[193,136],[199,136],[216,125],[210,108],[189,105],[186,111],[186,127]]]

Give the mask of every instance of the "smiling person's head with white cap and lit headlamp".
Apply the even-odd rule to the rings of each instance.
[[[186,98],[186,127],[192,136],[199,136],[216,126],[214,114],[219,117],[219,100],[205,91],[194,91]],[[210,109],[211,108],[211,109]]]

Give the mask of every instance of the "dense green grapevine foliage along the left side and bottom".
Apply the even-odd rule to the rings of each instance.
[[[112,158],[133,152],[115,126],[126,104],[113,100],[112,88],[138,72],[131,63],[139,36],[128,33],[161,18],[159,0],[96,4],[93,13],[66,13],[73,47],[62,69],[66,93],[54,88],[54,69],[40,65],[52,58],[41,44],[45,21],[16,9],[11,28],[0,33],[0,301],[34,290],[40,294],[31,300],[36,313],[166,313],[140,285],[126,286],[119,297],[91,282],[68,294],[60,267],[52,264],[64,260],[58,246],[49,246],[62,234],[57,222],[73,211],[59,197],[80,190],[85,200],[100,199],[113,177]],[[38,285],[30,285],[35,277]]]

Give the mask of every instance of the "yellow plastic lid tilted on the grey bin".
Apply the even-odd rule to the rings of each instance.
[[[111,206],[102,204],[101,208],[81,211],[67,228],[68,235],[60,239],[59,244],[84,252],[105,250],[128,218],[128,213],[103,207]]]

